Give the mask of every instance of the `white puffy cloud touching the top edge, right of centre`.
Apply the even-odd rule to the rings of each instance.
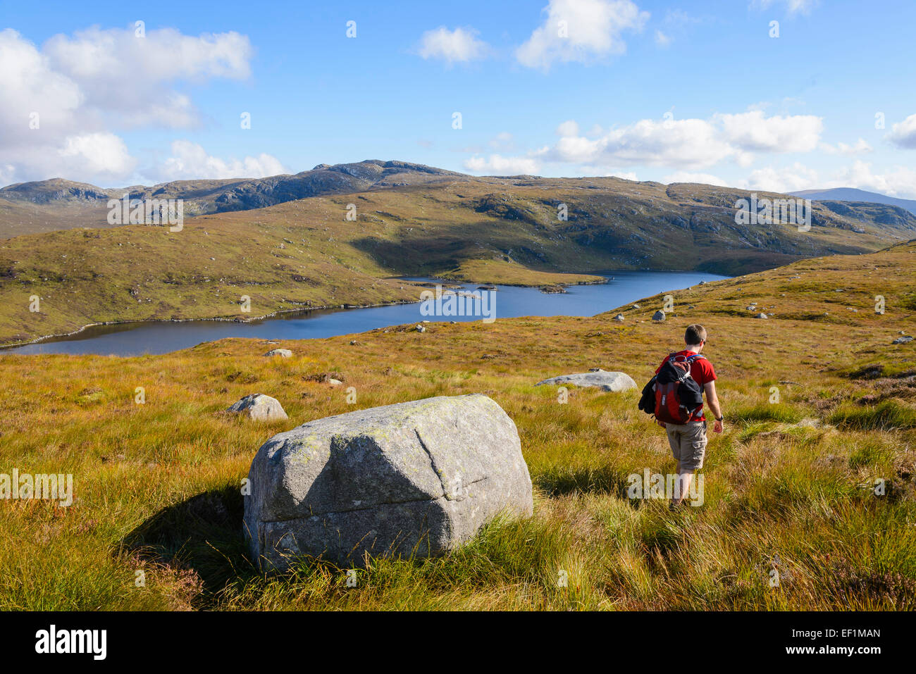
[[[627,49],[621,34],[641,30],[649,19],[631,0],[550,0],[544,11],[544,23],[516,49],[519,63],[542,70],[554,61],[621,54]]]

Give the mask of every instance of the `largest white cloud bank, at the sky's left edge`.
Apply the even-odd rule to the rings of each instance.
[[[104,183],[132,177],[118,128],[190,127],[199,115],[172,83],[250,75],[253,50],[237,33],[191,37],[165,28],[92,27],[39,49],[0,31],[0,179],[63,177]]]

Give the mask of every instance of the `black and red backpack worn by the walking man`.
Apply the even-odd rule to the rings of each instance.
[[[690,366],[699,353],[671,353],[659,374],[649,379],[639,398],[639,409],[668,424],[685,424],[703,410],[703,388],[690,375]]]

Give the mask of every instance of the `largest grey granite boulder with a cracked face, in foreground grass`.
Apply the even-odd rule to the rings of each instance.
[[[267,440],[248,480],[252,555],[281,571],[302,554],[342,567],[365,553],[435,555],[533,507],[518,430],[480,395],[310,421]]]

